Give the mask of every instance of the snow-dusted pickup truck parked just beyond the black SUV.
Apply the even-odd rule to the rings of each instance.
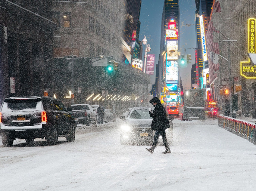
[[[96,112],[93,111],[92,106],[89,104],[75,104],[71,105],[70,113],[75,118],[77,124],[89,126],[90,123],[97,123]]]

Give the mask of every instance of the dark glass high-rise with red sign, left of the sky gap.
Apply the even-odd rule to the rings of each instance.
[[[122,62],[131,64],[134,48],[137,42],[135,54],[138,55],[139,50],[139,15],[141,9],[141,0],[125,0],[125,24],[123,29],[122,41]]]

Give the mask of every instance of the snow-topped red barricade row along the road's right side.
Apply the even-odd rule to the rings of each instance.
[[[233,134],[243,137],[244,139],[247,139],[248,141],[256,145],[255,124],[243,121],[241,119],[235,119],[222,115],[218,115],[217,117],[219,119],[219,127],[222,127],[223,129],[226,129]]]

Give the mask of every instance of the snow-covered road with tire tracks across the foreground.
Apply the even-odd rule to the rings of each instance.
[[[217,120],[175,119],[171,154],[119,142],[118,124],[80,127],[75,142],[0,143],[0,190],[255,190],[255,145]],[[39,141],[36,140],[36,141]],[[148,146],[149,148],[149,146]]]

